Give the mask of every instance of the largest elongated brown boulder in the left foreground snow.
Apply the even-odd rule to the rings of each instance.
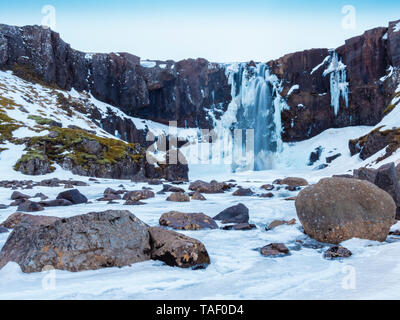
[[[92,212],[47,226],[21,223],[0,253],[0,267],[18,263],[23,272],[45,266],[68,271],[122,267],[150,259],[148,227],[129,211]]]

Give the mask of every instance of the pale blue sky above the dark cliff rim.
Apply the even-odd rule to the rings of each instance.
[[[89,0],[1,1],[0,23],[41,24],[56,9],[56,31],[73,48],[126,51],[150,59],[204,57],[216,62],[268,61],[344,40],[400,19],[400,1]],[[342,7],[356,10],[343,29]]]

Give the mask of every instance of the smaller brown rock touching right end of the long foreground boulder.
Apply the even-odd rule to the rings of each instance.
[[[206,268],[210,264],[208,252],[200,241],[162,228],[149,229],[151,258],[180,268]]]

